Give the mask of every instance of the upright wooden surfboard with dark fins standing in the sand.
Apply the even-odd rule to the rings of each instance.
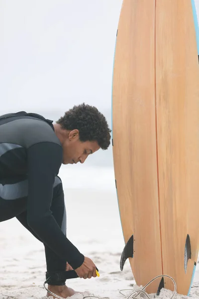
[[[199,253],[199,58],[194,0],[123,0],[112,78],[112,149],[137,285],[171,276],[189,295]],[[146,291],[174,290],[157,279]]]

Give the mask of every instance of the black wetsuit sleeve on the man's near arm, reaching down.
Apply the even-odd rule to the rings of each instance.
[[[28,201],[27,222],[36,235],[60,258],[77,269],[84,256],[67,239],[50,210],[55,176],[62,163],[61,146],[43,142],[27,149]]]

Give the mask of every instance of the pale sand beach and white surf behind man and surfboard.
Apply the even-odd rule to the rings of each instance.
[[[68,238],[99,268],[100,277],[72,279],[67,285],[86,292],[71,297],[83,299],[93,295],[124,298],[119,290],[137,286],[129,262],[119,268],[124,247],[112,168],[62,167],[60,176],[65,189]],[[77,183],[77,179],[79,183]],[[74,188],[76,186],[76,188]],[[90,188],[89,188],[90,186]],[[0,299],[44,299],[46,290],[45,255],[43,244],[34,238],[16,219],[0,223]],[[150,271],[150,269],[148,269]],[[132,292],[126,292],[127,295]],[[169,299],[172,292],[162,290],[159,297]],[[141,297],[141,294],[137,296]],[[199,298],[199,264],[190,297]]]

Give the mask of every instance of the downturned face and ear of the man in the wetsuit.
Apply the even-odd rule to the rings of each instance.
[[[78,130],[73,130],[69,133],[62,147],[63,164],[84,163],[89,154],[100,149],[97,141],[81,142]]]

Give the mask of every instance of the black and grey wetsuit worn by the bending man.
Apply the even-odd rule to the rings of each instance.
[[[16,217],[44,244],[48,274],[65,271],[66,262],[74,269],[84,262],[66,237],[64,193],[57,176],[62,157],[52,121],[26,112],[0,117],[0,222]]]

